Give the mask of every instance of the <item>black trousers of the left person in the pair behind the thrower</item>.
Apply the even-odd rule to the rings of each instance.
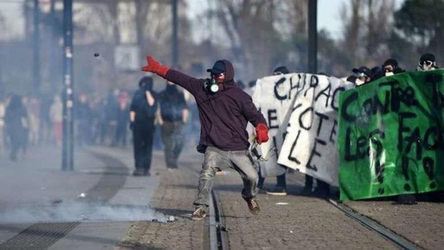
[[[151,167],[154,125],[138,125],[133,129],[134,161],[136,169],[149,171]]]

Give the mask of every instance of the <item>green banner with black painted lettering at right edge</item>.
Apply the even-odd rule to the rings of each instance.
[[[444,189],[444,70],[383,77],[339,102],[341,200]]]

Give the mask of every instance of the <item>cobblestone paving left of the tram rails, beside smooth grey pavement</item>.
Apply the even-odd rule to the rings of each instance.
[[[195,171],[201,165],[201,158],[194,155],[183,159],[187,168],[168,171],[163,155],[154,156],[153,172],[159,174],[160,184],[152,196],[151,208],[174,216],[176,221],[134,223],[116,249],[207,249],[207,220],[190,219],[198,180]]]

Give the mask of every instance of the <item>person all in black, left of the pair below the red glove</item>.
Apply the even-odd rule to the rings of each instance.
[[[130,106],[130,129],[133,131],[134,176],[150,176],[154,119],[157,109],[153,80],[145,76],[139,81],[139,89],[133,96]]]

